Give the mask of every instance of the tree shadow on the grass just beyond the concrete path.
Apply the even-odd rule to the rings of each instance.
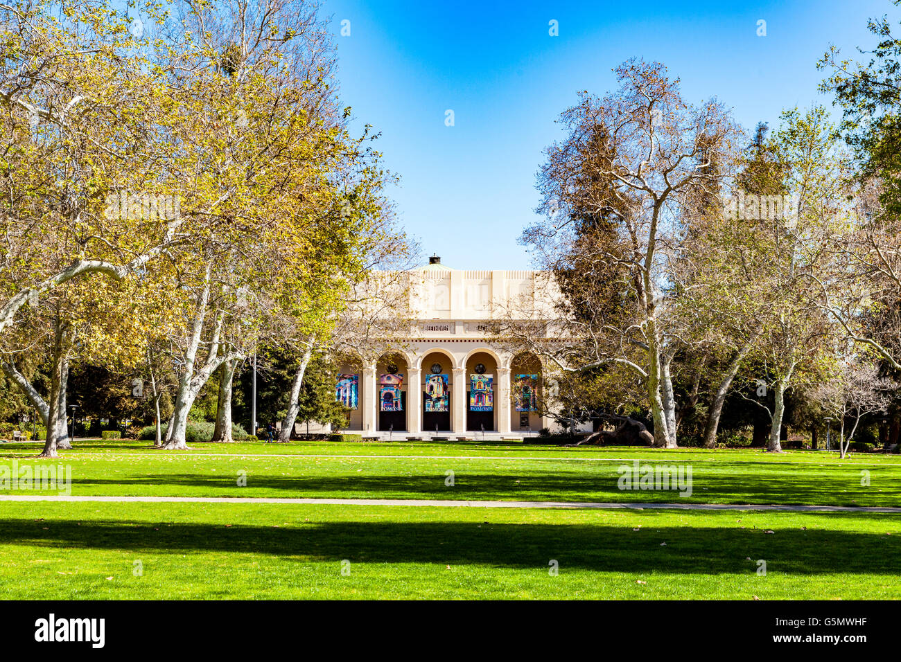
[[[452,487],[445,485],[443,471],[434,474],[338,473],[328,476],[273,476],[248,472],[247,486],[239,487],[233,476],[209,474],[144,474],[111,478],[73,476],[74,494],[93,494],[92,486],[141,485],[134,494],[285,497],[369,497],[436,499],[510,499],[544,501],[611,501],[642,503],[781,503],[813,505],[901,506],[895,490],[878,492],[874,475],[871,486],[861,486],[856,473],[804,476],[710,475],[695,476],[689,497],[678,490],[620,490],[615,473],[585,473],[575,470],[495,474],[460,472]],[[184,487],[183,493],[156,487]],[[108,490],[104,489],[104,493]],[[126,492],[128,492],[126,490]],[[129,492],[132,494],[132,492]]]

